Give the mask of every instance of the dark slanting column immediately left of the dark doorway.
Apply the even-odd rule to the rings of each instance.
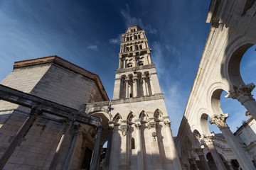
[[[78,138],[82,134],[80,130],[78,130],[79,125],[75,125],[75,134],[73,135],[73,139],[70,145],[70,148],[68,149],[67,157],[65,158],[65,164],[63,166],[63,170],[70,169],[71,162],[73,160],[73,156],[75,154],[75,147],[78,144]]]

